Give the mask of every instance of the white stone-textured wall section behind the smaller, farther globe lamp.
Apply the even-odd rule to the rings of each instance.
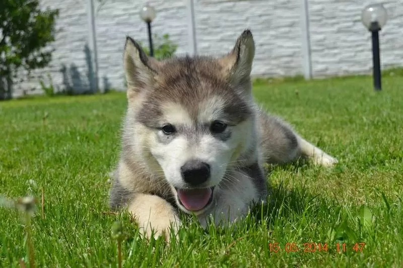
[[[139,11],[144,1],[107,0],[97,13],[97,44],[100,87],[109,83],[123,89],[123,47],[126,36],[142,42],[148,47],[147,25],[141,20]],[[177,53],[187,50],[187,20],[184,1],[150,1],[156,8],[157,17],[152,23],[152,33],[169,34],[178,45]],[[107,83],[104,82],[107,80]]]

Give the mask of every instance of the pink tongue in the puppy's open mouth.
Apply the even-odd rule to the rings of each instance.
[[[190,211],[206,207],[212,194],[211,188],[184,190],[178,189],[178,197],[182,205]]]

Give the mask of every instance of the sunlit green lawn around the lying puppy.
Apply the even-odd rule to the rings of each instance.
[[[146,243],[127,213],[108,213],[123,93],[1,103],[0,195],[40,200],[43,188],[45,218],[40,211],[32,218],[39,267],[116,267],[116,220],[126,233],[123,267],[401,267],[402,88],[400,75],[385,77],[382,92],[361,76],[256,82],[254,94],[268,110],[340,163],[273,167],[273,203],[255,208],[236,230],[190,222],[178,243]],[[28,264],[22,218],[1,207],[0,215],[0,266]],[[310,243],[315,252],[304,251]],[[365,246],[356,252],[355,243]]]

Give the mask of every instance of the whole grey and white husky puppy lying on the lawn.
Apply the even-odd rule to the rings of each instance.
[[[181,225],[179,211],[203,226],[209,218],[218,225],[245,216],[252,201],[266,199],[264,162],[337,163],[257,106],[254,53],[249,30],[221,58],[157,61],[127,37],[128,105],[110,206],[127,208],[146,236],[153,229],[169,239]]]

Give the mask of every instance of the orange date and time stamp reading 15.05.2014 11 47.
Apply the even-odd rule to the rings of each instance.
[[[335,243],[331,245],[331,249],[337,252],[346,252],[347,250],[353,250],[355,252],[362,252],[364,249],[365,243],[355,243],[353,245],[347,245],[346,243]],[[279,252],[286,251],[288,252],[327,252],[329,250],[329,246],[327,243],[303,243],[302,246],[299,246],[296,242],[288,242],[283,247],[280,246],[278,242],[269,243],[268,249],[270,252]]]

